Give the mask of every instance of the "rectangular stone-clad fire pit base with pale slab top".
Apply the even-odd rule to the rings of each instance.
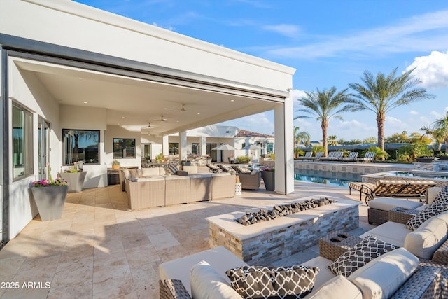
[[[314,195],[282,204],[319,197],[325,196]],[[249,265],[268,265],[318,244],[318,239],[330,232],[358,228],[360,202],[328,198],[335,202],[248,226],[235,221],[246,211],[209,217],[209,244],[211,248],[225,246]]]

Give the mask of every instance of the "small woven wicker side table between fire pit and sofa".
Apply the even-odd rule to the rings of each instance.
[[[319,239],[319,255],[329,260],[335,260],[362,240],[346,232],[332,232]]]

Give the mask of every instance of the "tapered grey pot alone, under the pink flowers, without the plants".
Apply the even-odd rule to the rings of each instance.
[[[69,186],[32,187],[34,201],[42,221],[50,221],[62,217],[65,197]]]

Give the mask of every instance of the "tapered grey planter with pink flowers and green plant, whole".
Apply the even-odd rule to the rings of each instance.
[[[42,221],[61,218],[69,187],[67,182],[60,177],[52,179],[50,167],[47,166],[49,179],[41,179],[31,183],[31,194],[34,197]]]

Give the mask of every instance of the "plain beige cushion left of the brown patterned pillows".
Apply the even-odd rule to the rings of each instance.
[[[191,295],[195,299],[241,298],[230,284],[206,261],[191,268]]]

